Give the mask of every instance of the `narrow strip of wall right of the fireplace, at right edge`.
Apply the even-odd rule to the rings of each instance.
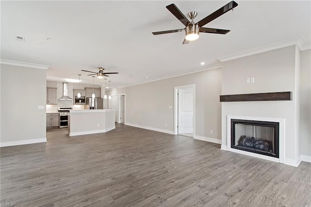
[[[311,161],[311,50],[300,53],[300,152]]]

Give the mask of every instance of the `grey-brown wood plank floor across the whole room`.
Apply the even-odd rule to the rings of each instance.
[[[18,207],[310,207],[311,163],[291,167],[219,144],[123,124],[1,148],[1,203]]]

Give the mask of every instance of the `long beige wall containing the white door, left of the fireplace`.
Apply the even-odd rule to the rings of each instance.
[[[210,69],[188,75],[112,89],[106,94],[125,93],[125,121],[161,131],[174,131],[174,87],[195,85],[196,136],[221,140],[222,69]],[[169,109],[172,106],[172,109]],[[165,123],[167,127],[165,127]],[[213,134],[210,134],[210,130]]]

